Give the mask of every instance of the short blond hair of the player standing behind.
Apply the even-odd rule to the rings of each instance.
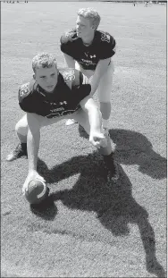
[[[79,16],[84,17],[85,19],[88,19],[92,25],[97,29],[99,23],[100,23],[100,15],[97,13],[96,10],[92,8],[82,8],[77,13]]]

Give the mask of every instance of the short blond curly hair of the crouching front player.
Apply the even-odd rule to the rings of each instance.
[[[51,68],[54,65],[57,68],[55,56],[46,52],[39,53],[32,59],[33,72],[36,72],[36,69],[38,69],[41,66],[42,68]]]

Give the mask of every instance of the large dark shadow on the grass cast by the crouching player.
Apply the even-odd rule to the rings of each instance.
[[[129,223],[136,223],[146,255],[147,271],[157,277],[165,277],[164,267],[155,256],[155,232],[148,221],[147,210],[132,196],[132,185],[119,165],[120,180],[108,188],[105,183],[105,166],[102,157],[96,152],[88,156],[75,156],[63,164],[48,169],[38,161],[38,172],[49,184],[62,181],[80,173],[71,190],[55,191],[53,201],[61,200],[71,209],[94,211],[100,223],[113,236],[124,236],[130,232]]]

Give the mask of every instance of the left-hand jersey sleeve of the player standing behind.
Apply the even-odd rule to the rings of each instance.
[[[71,30],[69,32],[65,32],[63,36],[60,38],[60,48],[61,51],[64,54],[70,55],[71,57],[74,57],[75,55],[75,47],[73,44],[73,36],[74,36],[74,30]]]

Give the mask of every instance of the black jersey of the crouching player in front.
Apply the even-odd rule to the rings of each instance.
[[[75,69],[59,71],[52,93],[47,93],[36,80],[30,80],[19,88],[19,105],[25,112],[46,118],[73,114],[80,108],[80,101],[91,91],[91,86],[82,82],[83,74]]]

